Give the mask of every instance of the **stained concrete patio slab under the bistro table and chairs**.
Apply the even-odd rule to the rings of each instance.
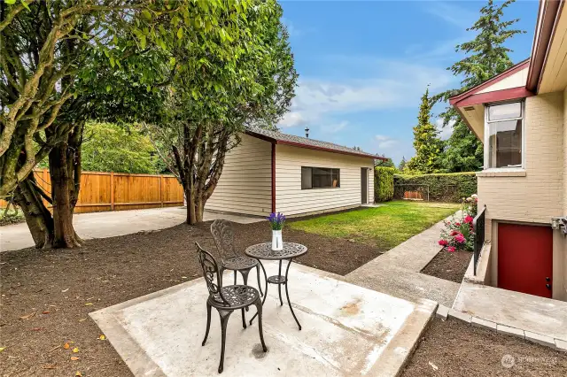
[[[276,263],[266,265],[268,275],[276,272]],[[216,376],[221,332],[214,309],[201,346],[206,296],[205,281],[197,279],[90,316],[136,376]],[[303,329],[270,285],[263,312],[267,353],[261,351],[257,321],[243,329],[240,312],[232,314],[223,375],[393,376],[437,307],[357,287],[304,265],[291,265],[290,296]],[[246,317],[254,312],[252,307]]]

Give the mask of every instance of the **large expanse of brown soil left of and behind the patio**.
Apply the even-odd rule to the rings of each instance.
[[[0,253],[0,368],[3,376],[132,375],[88,313],[201,275],[194,242],[216,252],[210,223],[89,240],[79,250]],[[268,242],[267,222],[235,224],[237,246]],[[381,250],[289,228],[307,245],[299,263],[346,274]],[[205,289],[205,287],[203,287]],[[68,344],[68,349],[66,349]],[[76,352],[73,350],[76,348]]]

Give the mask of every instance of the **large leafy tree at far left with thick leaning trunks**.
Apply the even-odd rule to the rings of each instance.
[[[28,3],[0,2],[0,196],[14,191],[36,247],[80,246],[73,211],[86,119],[157,116],[173,41],[218,35],[217,13],[245,3]],[[173,30],[175,18],[190,27]],[[51,196],[30,174],[45,157]],[[43,198],[53,204],[52,216]]]

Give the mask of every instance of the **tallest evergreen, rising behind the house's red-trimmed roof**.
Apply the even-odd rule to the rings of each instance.
[[[509,21],[501,20],[504,9],[515,0],[507,0],[497,5],[493,0],[488,0],[480,10],[480,18],[474,25],[467,29],[476,34],[470,41],[456,46],[457,52],[463,52],[466,58],[456,62],[447,68],[455,76],[462,75],[462,87],[447,90],[437,96],[434,101],[448,101],[451,96],[473,88],[490,79],[512,66],[509,58],[509,48],[504,43],[517,34],[525,33],[524,30],[514,29],[512,26],[518,19]],[[447,172],[470,172],[482,169],[483,166],[483,144],[467,127],[458,112],[452,106],[448,106],[445,112],[440,114],[443,126],[454,125],[453,134],[447,141],[447,149],[442,158],[443,169]]]

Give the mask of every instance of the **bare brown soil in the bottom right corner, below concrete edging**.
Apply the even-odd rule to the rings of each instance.
[[[566,376],[567,354],[454,319],[434,319],[401,375]]]

